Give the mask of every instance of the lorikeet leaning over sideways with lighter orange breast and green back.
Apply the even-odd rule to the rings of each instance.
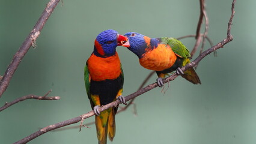
[[[194,68],[189,68],[184,73],[180,69],[190,62],[189,50],[181,41],[168,37],[150,38],[136,32],[128,32],[124,36],[128,40],[123,46],[138,56],[142,67],[156,71],[158,86],[162,87],[162,79],[175,70],[189,82],[201,84]]]

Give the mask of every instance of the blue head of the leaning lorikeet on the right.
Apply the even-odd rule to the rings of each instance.
[[[124,37],[127,37],[128,40],[123,46],[135,53],[139,58],[142,58],[147,50],[154,49],[158,43],[157,39],[149,38],[137,32],[127,32]]]

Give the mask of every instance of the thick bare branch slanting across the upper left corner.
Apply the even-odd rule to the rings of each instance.
[[[58,2],[59,0],[50,0],[50,2],[48,2],[46,8],[44,8],[44,11],[41,14],[40,18],[38,19],[37,23],[35,24],[34,28],[30,32],[28,37],[26,37],[26,40],[23,42],[22,46],[20,46],[19,50],[15,53],[13,60],[8,66],[7,70],[5,71],[5,74],[2,77],[2,80],[0,82],[0,98],[2,94],[4,94],[5,90],[7,89],[10,83],[11,77],[13,77],[14,72],[19,66],[26,52],[28,52],[31,46],[33,47],[35,46],[35,41],[40,35],[41,29],[43,29],[44,24],[46,23],[47,19],[50,17],[50,14],[52,14],[52,11],[54,10]]]

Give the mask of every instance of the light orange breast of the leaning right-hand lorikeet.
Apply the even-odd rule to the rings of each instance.
[[[166,44],[159,44],[156,49],[147,51],[139,63],[142,67],[154,71],[162,71],[170,68],[176,61],[177,56],[172,51],[171,47]]]

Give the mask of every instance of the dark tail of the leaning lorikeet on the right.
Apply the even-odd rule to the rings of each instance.
[[[184,59],[183,66],[188,64],[190,62],[189,59]],[[192,82],[194,84],[201,84],[201,81],[195,72],[194,68],[189,68],[188,70],[184,71],[184,74],[181,74],[184,79],[188,80],[189,82]]]

